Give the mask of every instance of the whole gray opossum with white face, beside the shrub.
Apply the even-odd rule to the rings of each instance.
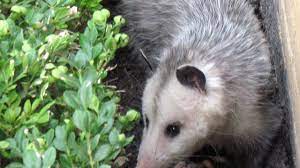
[[[268,46],[245,0],[124,0],[131,45],[153,65],[138,167],[163,168],[204,144],[259,168],[280,124]],[[146,119],[147,118],[147,119]]]

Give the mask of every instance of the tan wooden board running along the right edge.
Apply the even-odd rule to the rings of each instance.
[[[295,161],[300,167],[300,0],[279,1],[279,35],[295,135]]]

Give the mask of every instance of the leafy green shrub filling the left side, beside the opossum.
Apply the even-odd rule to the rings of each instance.
[[[0,158],[7,167],[107,168],[139,113],[103,82],[128,36],[100,0],[0,1]],[[120,81],[122,82],[122,81]],[[117,166],[114,166],[117,167]]]

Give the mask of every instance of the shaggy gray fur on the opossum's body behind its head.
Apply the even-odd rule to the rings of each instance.
[[[213,63],[223,80],[223,110],[228,114],[220,133],[207,142],[225,148],[237,167],[261,167],[257,158],[270,148],[281,117],[267,97],[272,91],[270,53],[248,2],[124,0],[120,11],[128,22],[131,46],[136,52],[142,49],[157,67],[151,77],[154,93],[144,97],[159,97],[181,65]],[[155,113],[157,103],[152,106]]]

